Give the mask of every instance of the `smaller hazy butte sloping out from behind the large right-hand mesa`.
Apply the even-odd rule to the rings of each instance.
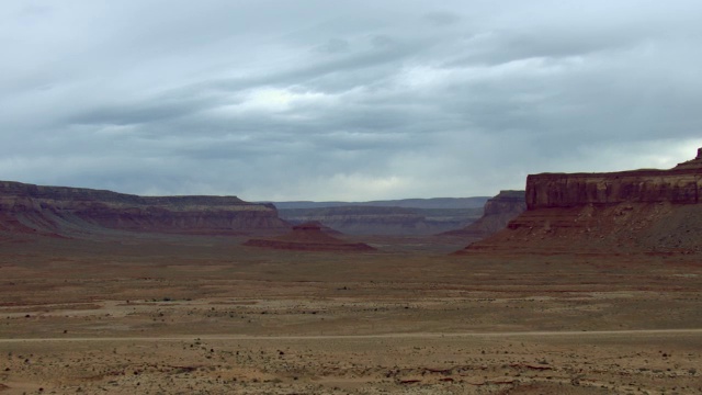
[[[503,229],[507,224],[526,210],[524,191],[500,191],[485,203],[483,216],[473,224],[442,236],[461,236],[480,239]]]

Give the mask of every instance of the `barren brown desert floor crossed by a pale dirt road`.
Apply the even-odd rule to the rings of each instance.
[[[702,393],[702,257],[245,240],[0,242],[0,393]]]

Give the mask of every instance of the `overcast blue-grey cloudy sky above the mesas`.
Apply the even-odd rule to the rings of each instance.
[[[699,0],[3,0],[0,180],[495,195],[702,147]]]

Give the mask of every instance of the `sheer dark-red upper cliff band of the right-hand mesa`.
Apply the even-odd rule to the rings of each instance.
[[[702,148],[698,150],[695,159],[670,170],[531,174],[526,178],[526,207],[575,207],[624,202],[698,204],[701,190]]]

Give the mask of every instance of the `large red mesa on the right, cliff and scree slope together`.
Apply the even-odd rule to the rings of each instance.
[[[702,252],[701,189],[702,149],[669,170],[529,176],[526,212],[465,251]]]

